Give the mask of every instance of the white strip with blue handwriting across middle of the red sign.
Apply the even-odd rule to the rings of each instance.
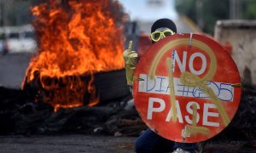
[[[155,76],[153,80],[149,79],[146,74],[140,74],[140,78],[143,79],[139,82],[138,92],[148,94],[170,94],[169,78]],[[180,78],[173,78],[174,82],[174,93],[176,96],[199,98],[199,99],[210,99],[201,88],[183,85]],[[234,98],[234,87],[231,83],[225,82],[207,82],[207,88],[212,88],[212,91],[217,95],[218,99],[222,101],[232,102]]]

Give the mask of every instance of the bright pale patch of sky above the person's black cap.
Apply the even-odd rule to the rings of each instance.
[[[131,20],[153,21],[160,18],[177,19],[174,0],[119,0]]]

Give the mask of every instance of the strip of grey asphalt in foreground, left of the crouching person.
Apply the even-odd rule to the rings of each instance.
[[[2,153],[130,153],[135,137],[88,135],[0,136]]]

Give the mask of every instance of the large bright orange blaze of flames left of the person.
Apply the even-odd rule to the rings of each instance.
[[[43,89],[38,95],[55,111],[83,105],[85,92],[90,94],[88,105],[96,105],[93,74],[124,68],[124,17],[119,3],[50,0],[33,7],[32,14],[38,54],[26,70],[22,87],[38,80]]]

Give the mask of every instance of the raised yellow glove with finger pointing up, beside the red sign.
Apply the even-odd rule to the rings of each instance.
[[[136,51],[131,51],[132,41],[129,42],[128,49],[125,50],[123,56],[125,59],[125,72],[127,85],[132,86],[133,73],[137,65],[138,54]]]

